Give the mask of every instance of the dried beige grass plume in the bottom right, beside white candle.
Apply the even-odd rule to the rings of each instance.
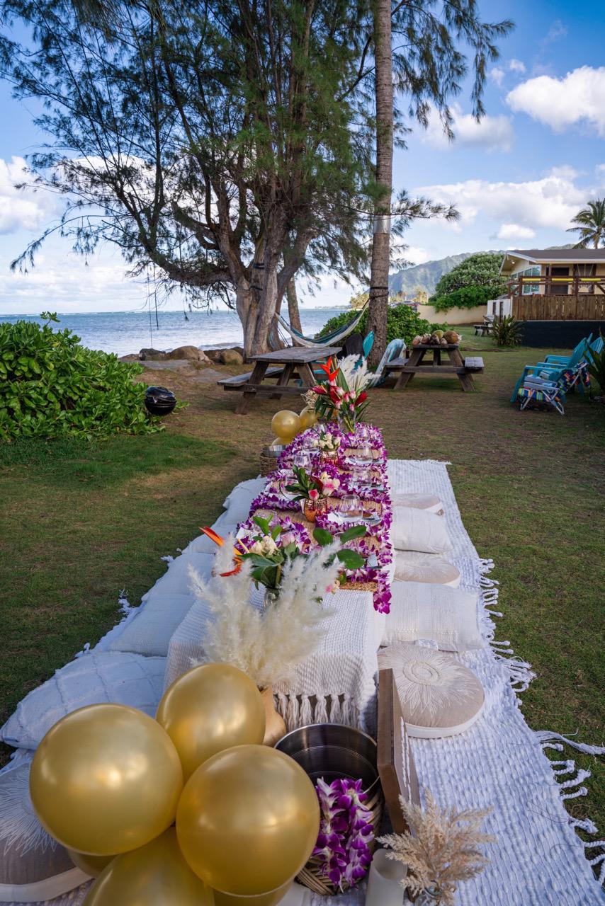
[[[430,891],[436,903],[453,906],[458,884],[483,872],[489,862],[478,847],[495,842],[491,834],[480,831],[492,809],[441,809],[431,791],[424,792],[425,809],[400,797],[409,833],[387,834],[379,842],[393,850],[389,858],[407,865],[403,887],[412,894]]]

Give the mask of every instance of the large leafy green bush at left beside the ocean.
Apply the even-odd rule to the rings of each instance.
[[[44,313],[47,322],[56,321]],[[141,366],[80,344],[48,323],[0,324],[0,438],[104,438],[161,430],[144,408]]]

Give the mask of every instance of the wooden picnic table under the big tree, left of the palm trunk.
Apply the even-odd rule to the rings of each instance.
[[[340,346],[288,346],[276,352],[261,352],[250,356],[255,364],[248,374],[236,374],[217,382],[223,390],[237,390],[242,394],[236,412],[245,415],[257,394],[279,400],[283,394],[300,396],[309,387],[314,387],[317,380],[311,367],[313,363],[336,355],[340,349]],[[298,381],[298,385],[289,386],[289,381]]]

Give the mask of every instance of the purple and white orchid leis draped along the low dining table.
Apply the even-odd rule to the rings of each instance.
[[[323,426],[321,426],[320,429],[323,429]],[[374,425],[357,425],[355,431],[346,433],[343,429],[337,427],[336,424],[332,425],[332,423],[330,423],[329,431],[332,435],[337,436],[340,439],[341,450],[345,450],[349,447],[355,448],[360,444],[364,444],[372,447],[378,453],[378,456],[373,463],[373,468],[379,475],[376,482],[377,487],[364,488],[364,491],[360,496],[366,500],[372,500],[380,504],[380,523],[378,525],[369,526],[366,538],[362,538],[355,543],[356,549],[360,554],[363,554],[366,559],[368,557],[372,558],[370,561],[372,565],[366,565],[355,572],[347,572],[346,578],[351,582],[376,583],[374,608],[379,613],[388,613],[390,612],[391,602],[389,567],[393,561],[393,547],[391,545],[389,529],[393,522],[393,509],[390,491],[388,490],[388,477],[386,474],[385,442],[380,429],[377,429]],[[363,437],[361,435],[362,431],[365,432]],[[295,525],[297,526],[297,530],[305,532],[308,544],[310,543],[310,538],[306,533],[304,526],[296,522],[293,523],[292,520],[285,515],[288,512],[291,514],[299,512],[298,503],[293,500],[288,500],[288,498],[282,496],[279,491],[279,486],[283,482],[283,478],[291,475],[294,457],[303,450],[311,453],[317,451],[317,462],[314,462],[313,464],[314,474],[327,472],[327,475],[330,477],[338,477],[340,479],[340,487],[338,487],[333,496],[341,497],[355,492],[355,478],[350,473],[342,471],[343,468],[346,468],[346,458],[342,452],[338,454],[337,463],[319,462],[316,426],[298,434],[292,443],[282,452],[278,459],[278,469],[268,476],[267,486],[259,496],[252,501],[250,513],[253,514],[256,510],[263,508],[279,511],[283,510],[284,517],[279,517],[278,521],[281,522],[282,525],[285,521],[288,521],[289,525]],[[338,465],[340,465],[340,468]],[[384,488],[384,490],[379,490],[378,487]],[[336,534],[334,531],[334,524],[330,524],[329,513],[318,514],[316,524],[317,526],[327,528],[332,531],[333,534]],[[338,528],[343,532],[346,528],[351,527],[351,525],[355,524],[338,525]],[[252,525],[250,521],[248,521],[246,526],[249,528],[249,531],[256,531],[256,526]],[[374,539],[372,544],[368,544],[370,538]]]

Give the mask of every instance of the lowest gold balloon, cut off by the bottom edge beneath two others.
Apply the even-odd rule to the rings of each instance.
[[[174,828],[104,869],[84,906],[212,906],[212,892],[182,857]]]

